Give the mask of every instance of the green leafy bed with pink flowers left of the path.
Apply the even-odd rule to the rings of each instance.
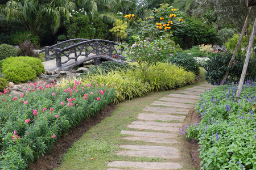
[[[1,168],[26,169],[69,128],[112,103],[114,89],[77,81],[68,87],[31,83],[26,94],[0,99]]]

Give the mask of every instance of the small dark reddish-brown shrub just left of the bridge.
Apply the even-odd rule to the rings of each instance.
[[[18,56],[28,56],[28,57],[39,57],[39,53],[34,52],[35,47],[30,43],[30,41],[24,41],[19,45]]]

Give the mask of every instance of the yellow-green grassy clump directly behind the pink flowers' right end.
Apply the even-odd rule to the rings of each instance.
[[[140,69],[136,69],[140,70]],[[150,85],[138,79],[135,76],[135,70],[119,70],[109,71],[107,75],[99,70],[99,74],[88,74],[82,78],[82,83],[89,84],[104,84],[104,86],[112,86],[115,88],[114,103],[119,103],[125,99],[133,99],[135,97],[142,97],[150,90]]]

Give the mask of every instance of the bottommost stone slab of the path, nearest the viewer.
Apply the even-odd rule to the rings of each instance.
[[[172,162],[126,162],[114,161],[108,164],[110,167],[135,167],[143,169],[179,169],[182,166],[179,163]]]

